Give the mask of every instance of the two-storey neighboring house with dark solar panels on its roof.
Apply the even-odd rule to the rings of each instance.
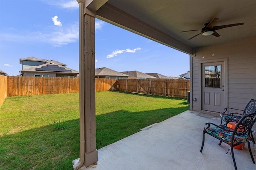
[[[21,76],[25,77],[77,77],[78,71],[66,67],[67,64],[58,61],[27,57],[20,59]]]

